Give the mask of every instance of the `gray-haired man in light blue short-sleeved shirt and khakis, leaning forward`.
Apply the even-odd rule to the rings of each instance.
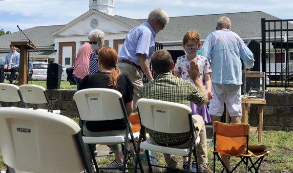
[[[146,22],[128,32],[119,52],[117,66],[129,77],[134,86],[133,112],[136,112],[135,105],[143,86],[143,75],[146,75],[148,81],[153,80],[149,62],[155,50],[155,37],[168,22],[169,17],[164,10],[160,8],[152,10]]]

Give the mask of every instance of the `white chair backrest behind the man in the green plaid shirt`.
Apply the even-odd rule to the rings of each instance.
[[[143,126],[163,133],[190,131],[191,108],[186,105],[152,99],[139,99],[136,103]]]

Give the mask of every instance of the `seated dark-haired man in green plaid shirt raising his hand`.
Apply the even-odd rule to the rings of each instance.
[[[158,74],[157,78],[144,85],[140,91],[141,98],[156,99],[168,102],[185,104],[190,107],[190,101],[198,106],[207,104],[208,93],[200,80],[198,65],[190,63],[188,74],[194,84],[187,80],[182,80],[172,75],[174,63],[167,50],[158,50],[151,57],[152,70]],[[180,116],[180,115],[178,115]],[[200,143],[197,146],[198,162],[200,173],[212,173],[207,165],[207,134],[203,118],[200,115],[192,115],[195,134],[200,136]],[[162,133],[153,130],[146,130],[151,136],[154,144],[169,146],[174,148],[188,148],[191,134],[187,133]],[[164,154],[168,166],[175,168],[177,160],[173,155]],[[188,157],[183,157],[183,168],[187,167]],[[192,163],[195,166],[195,163]]]

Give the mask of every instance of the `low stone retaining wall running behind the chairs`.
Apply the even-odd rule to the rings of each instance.
[[[60,109],[61,114],[68,117],[78,116],[78,111],[73,101],[75,89],[51,89],[47,90],[49,100],[53,109]],[[267,91],[265,93],[267,105],[264,106],[264,129],[272,130],[293,130],[293,91],[278,90]],[[4,104],[4,107],[20,107],[18,104]],[[45,104],[36,105],[29,104],[30,108],[47,108]],[[250,108],[250,124],[258,124],[258,107],[251,105]]]

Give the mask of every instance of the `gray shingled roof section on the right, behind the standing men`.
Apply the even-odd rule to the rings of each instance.
[[[157,34],[156,41],[182,40],[184,34],[193,29],[199,32],[201,39],[206,39],[209,33],[215,31],[217,20],[221,16],[230,18],[231,30],[241,38],[261,37],[261,18],[279,19],[262,11],[170,17],[164,30]],[[139,21],[144,22],[146,19]]]

